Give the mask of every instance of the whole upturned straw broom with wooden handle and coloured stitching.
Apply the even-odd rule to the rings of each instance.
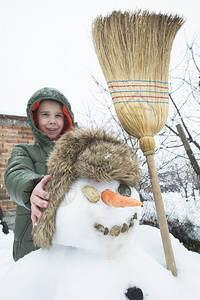
[[[167,268],[177,275],[155,167],[156,135],[168,116],[172,43],[184,20],[178,15],[114,11],[93,22],[93,43],[117,116],[138,138],[146,156]]]

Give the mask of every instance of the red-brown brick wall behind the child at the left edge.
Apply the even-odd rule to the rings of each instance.
[[[12,148],[16,144],[31,144],[34,137],[26,117],[0,114],[0,206],[3,212],[15,211],[16,205],[8,196],[4,173]]]

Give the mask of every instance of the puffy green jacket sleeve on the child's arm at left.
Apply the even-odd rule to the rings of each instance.
[[[26,147],[14,146],[4,176],[6,190],[11,199],[30,210],[32,190],[43,177],[43,174],[35,172],[33,161]]]

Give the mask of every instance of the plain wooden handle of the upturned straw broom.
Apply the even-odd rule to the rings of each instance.
[[[169,229],[167,224],[167,219],[165,215],[164,204],[162,200],[162,194],[160,190],[160,185],[158,181],[158,174],[155,166],[155,160],[153,154],[146,156],[147,165],[149,169],[149,175],[151,179],[151,184],[153,188],[154,201],[156,205],[156,211],[158,216],[158,222],[162,237],[163,248],[165,252],[165,259],[167,263],[167,269],[172,272],[174,276],[177,276],[177,269],[174,260],[174,254],[172,250],[171,240],[169,236]]]

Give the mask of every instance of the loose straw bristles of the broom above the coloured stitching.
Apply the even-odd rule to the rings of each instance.
[[[107,81],[168,80],[172,43],[183,24],[178,15],[114,11],[93,23],[93,42]]]

